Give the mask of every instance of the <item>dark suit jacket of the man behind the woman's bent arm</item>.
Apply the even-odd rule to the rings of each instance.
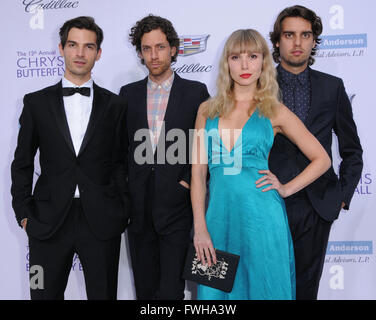
[[[341,204],[349,208],[362,173],[362,147],[352,108],[340,78],[310,69],[311,106],[305,125],[332,159],[332,132],[338,137],[342,158],[339,178],[329,170],[305,188],[315,211],[325,220],[338,217]],[[278,77],[278,82],[281,79]],[[269,168],[282,183],[297,176],[309,160],[285,136],[277,134],[269,155]]]

